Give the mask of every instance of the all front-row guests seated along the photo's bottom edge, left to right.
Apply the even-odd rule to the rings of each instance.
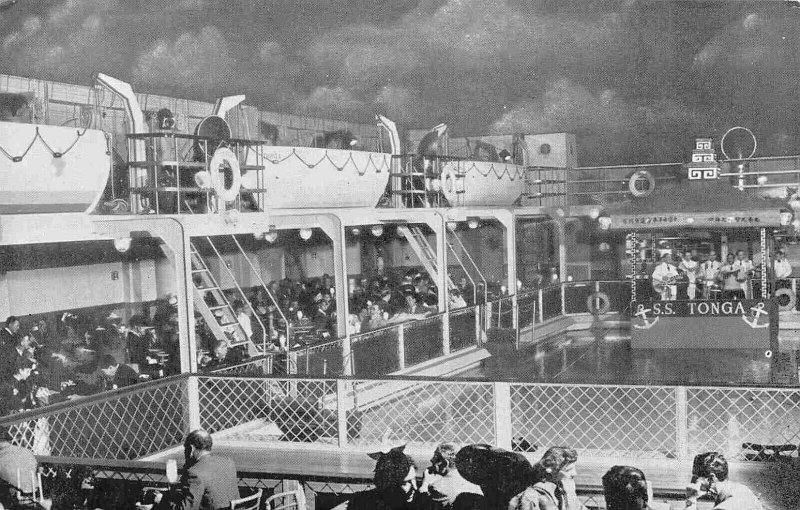
[[[37,470],[36,458],[11,440],[8,430],[0,430],[0,509],[23,508],[20,502],[34,496],[36,485],[30,476]],[[170,478],[168,473],[173,483],[163,490],[134,488],[131,496],[130,487],[120,486],[113,494],[94,494],[94,488],[85,483],[78,491],[74,483],[72,489],[51,484],[44,491],[45,498],[34,498],[40,500],[40,506],[24,508],[229,508],[242,497],[236,466],[232,459],[213,454],[212,446],[208,432],[190,432],[184,443],[183,475]],[[434,450],[430,466],[421,475],[404,450],[405,446],[399,446],[387,453],[369,454],[376,461],[373,488],[353,494],[334,510],[691,510],[697,508],[700,498],[713,501],[716,510],[764,509],[752,490],[730,479],[728,462],[717,452],[694,458],[685,500],[680,503],[671,506],[656,501],[642,470],[616,465],[600,480],[605,505],[587,507],[576,489],[578,454],[568,447],[551,447],[531,464],[522,453],[486,444],[459,449],[444,443]],[[21,476],[23,472],[27,476]]]

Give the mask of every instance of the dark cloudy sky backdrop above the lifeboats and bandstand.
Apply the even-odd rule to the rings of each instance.
[[[571,131],[582,164],[743,125],[800,153],[800,9],[760,0],[19,0],[0,72],[456,134]]]

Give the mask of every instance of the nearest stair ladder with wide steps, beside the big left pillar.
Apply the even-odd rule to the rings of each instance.
[[[229,347],[248,346],[248,354],[257,353],[255,344],[247,338],[236,312],[220,288],[214,275],[208,269],[202,255],[194,243],[189,244],[192,261],[192,286],[194,288],[194,307],[208,324],[214,337]]]

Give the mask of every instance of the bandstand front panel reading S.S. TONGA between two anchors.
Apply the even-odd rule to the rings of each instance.
[[[634,349],[764,349],[778,351],[778,307],[770,299],[635,303]]]

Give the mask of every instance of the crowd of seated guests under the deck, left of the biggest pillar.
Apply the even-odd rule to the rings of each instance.
[[[0,416],[180,372],[177,300],[123,321],[114,311],[8,317]]]

